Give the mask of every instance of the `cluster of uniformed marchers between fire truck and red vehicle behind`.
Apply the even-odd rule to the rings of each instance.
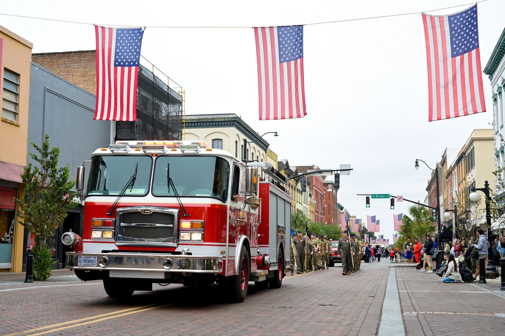
[[[329,268],[332,244],[328,236],[312,233],[302,237],[302,231],[298,231],[291,241],[291,260],[295,262],[296,273],[312,272]],[[291,275],[294,269],[291,269]]]

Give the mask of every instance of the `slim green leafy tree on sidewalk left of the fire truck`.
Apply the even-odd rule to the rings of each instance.
[[[16,199],[16,202],[21,208],[19,223],[35,235],[33,279],[44,281],[51,276],[55,263],[47,239],[63,224],[67,211],[77,204],[68,195],[75,182],[68,181],[68,164],[58,168],[60,149],[55,147],[50,150],[49,134],[45,134],[41,148],[33,142],[31,145],[38,156],[33,153],[29,155],[37,164],[34,166],[30,163],[24,168],[21,178],[25,195],[20,200]]]

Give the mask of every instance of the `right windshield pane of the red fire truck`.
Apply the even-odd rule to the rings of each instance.
[[[229,164],[214,156],[159,156],[154,166],[153,195],[175,196],[167,188],[167,165],[180,197],[228,197]]]

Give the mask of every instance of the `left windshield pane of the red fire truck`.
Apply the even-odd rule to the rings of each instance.
[[[138,166],[137,166],[138,164]],[[96,156],[91,159],[88,195],[119,195],[131,179],[136,168],[134,185],[128,187],[125,196],[145,196],[149,191],[149,181],[153,160],[150,156]]]

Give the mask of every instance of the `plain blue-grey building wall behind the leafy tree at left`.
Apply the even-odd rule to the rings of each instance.
[[[91,153],[109,147],[111,122],[93,119],[95,104],[94,94],[31,63],[28,142],[42,146],[44,134],[49,133],[51,148],[60,148],[58,165],[70,164],[72,180]],[[28,153],[35,153],[30,144]],[[28,155],[28,163],[33,162]]]

